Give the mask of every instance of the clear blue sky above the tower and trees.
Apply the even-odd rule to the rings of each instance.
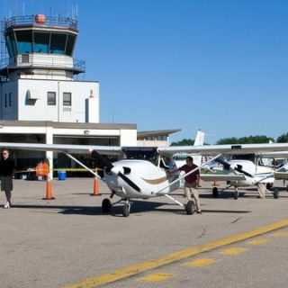
[[[206,141],[288,132],[286,0],[0,0],[0,16],[78,13],[80,79],[101,122]],[[51,10],[50,10],[51,8]]]

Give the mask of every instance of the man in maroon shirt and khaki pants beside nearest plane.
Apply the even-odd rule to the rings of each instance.
[[[188,156],[188,157],[186,157],[186,164],[184,164],[184,166],[181,166],[180,168],[178,168],[178,170],[184,171],[184,173],[187,174],[196,168],[198,168],[198,166],[193,164],[193,157]],[[198,186],[199,186],[199,180],[200,180],[199,169],[197,169],[193,173],[185,176],[184,180],[185,180],[184,192],[186,194],[187,200],[191,201],[191,193],[193,193],[193,197],[194,197],[195,202],[196,202],[197,213],[201,214],[202,211],[200,208],[200,200],[199,200],[199,192],[198,192]]]

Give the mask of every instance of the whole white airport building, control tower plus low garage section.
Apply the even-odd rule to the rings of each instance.
[[[99,83],[76,80],[85,72],[85,61],[73,58],[76,20],[14,16],[4,19],[1,34],[1,141],[137,145],[136,124],[99,123]],[[14,155],[23,168],[53,158],[51,152]],[[72,165],[55,155],[54,162]]]

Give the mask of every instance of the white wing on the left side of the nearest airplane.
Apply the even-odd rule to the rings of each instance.
[[[69,144],[34,144],[34,143],[8,143],[0,142],[0,148],[23,149],[34,151],[55,151],[62,153],[91,154],[96,150],[100,154],[119,155],[122,152],[120,146],[96,146],[96,145],[69,145]]]

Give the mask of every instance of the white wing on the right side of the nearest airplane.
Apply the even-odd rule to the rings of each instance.
[[[189,153],[201,155],[236,155],[248,153],[264,153],[276,151],[288,151],[288,143],[275,144],[233,144],[233,145],[204,145],[204,146],[170,146],[157,148],[161,155],[173,155],[175,153]]]

